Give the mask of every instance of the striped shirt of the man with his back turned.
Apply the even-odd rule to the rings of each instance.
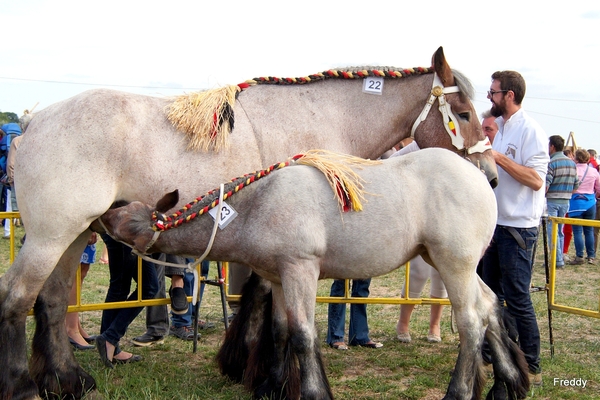
[[[577,166],[562,151],[550,156],[546,174],[546,199],[552,203],[567,204],[571,194],[579,187]]]

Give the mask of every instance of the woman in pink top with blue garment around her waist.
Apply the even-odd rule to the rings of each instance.
[[[590,153],[584,149],[575,152],[577,163],[577,176],[579,188],[573,193],[569,203],[569,217],[593,220],[596,218],[596,196],[600,196],[600,174],[588,164]],[[591,226],[573,225],[573,241],[575,242],[576,257],[571,265],[580,265],[585,262],[583,258],[585,237],[585,251],[588,264],[595,264],[596,250],[594,246],[594,228]]]

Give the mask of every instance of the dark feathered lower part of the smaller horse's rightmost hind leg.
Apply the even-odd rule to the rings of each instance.
[[[529,391],[528,364],[519,346],[509,337],[497,302],[485,337],[494,367],[494,386],[486,399],[524,399]]]

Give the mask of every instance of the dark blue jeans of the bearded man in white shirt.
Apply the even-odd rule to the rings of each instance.
[[[483,255],[483,281],[498,296],[501,308],[515,320],[519,346],[531,372],[540,372],[540,331],[531,302],[532,255],[538,228],[514,228],[524,241],[523,249],[503,226],[496,225],[490,247]],[[503,307],[506,301],[506,309]],[[506,312],[505,311],[505,312]],[[483,358],[490,362],[489,347],[484,345]]]

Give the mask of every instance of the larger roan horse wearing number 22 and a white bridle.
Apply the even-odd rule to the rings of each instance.
[[[363,90],[372,78],[383,83],[375,94]],[[256,81],[268,84],[208,107],[210,121],[230,128],[229,146],[220,151],[190,147],[195,141],[165,112],[172,99],[100,89],[35,114],[15,166],[27,241],[0,278],[0,399],[80,398],[95,388],[73,356],[64,318],[89,226],[115,202],[155,204],[175,188],[191,198],[309,148],[375,159],[411,135],[421,148],[453,149],[490,182],[497,179],[491,151],[478,146],[484,136],[469,100],[472,87],[450,69],[441,48],[431,68],[365,67]],[[429,100],[434,106],[422,113]],[[450,107],[440,111],[442,101]],[[28,361],[25,323],[32,307],[36,331]]]

